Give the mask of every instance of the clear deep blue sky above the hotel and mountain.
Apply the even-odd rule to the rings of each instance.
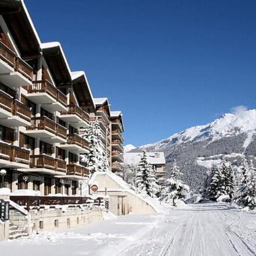
[[[122,110],[125,144],[152,143],[256,103],[256,1],[26,0],[94,97]]]

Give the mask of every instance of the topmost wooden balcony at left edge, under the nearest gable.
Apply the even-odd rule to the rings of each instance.
[[[10,87],[31,84],[33,68],[0,41],[0,74],[2,83]]]

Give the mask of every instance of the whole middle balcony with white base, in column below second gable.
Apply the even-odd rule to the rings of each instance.
[[[47,143],[65,143],[66,128],[56,124],[46,116],[31,118],[31,125],[27,126],[26,134],[34,138],[41,138]]]

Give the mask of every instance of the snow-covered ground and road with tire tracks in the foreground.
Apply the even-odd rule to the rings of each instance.
[[[256,215],[205,203],[0,243],[1,255],[256,255]]]

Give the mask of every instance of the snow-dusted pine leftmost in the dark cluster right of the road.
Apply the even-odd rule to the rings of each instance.
[[[225,187],[223,186],[223,174],[221,168],[218,168],[217,165],[211,166],[211,183],[207,188],[207,197],[213,201],[221,196],[225,195]]]

